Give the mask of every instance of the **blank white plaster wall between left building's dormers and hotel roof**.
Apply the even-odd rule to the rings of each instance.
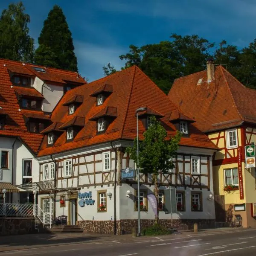
[[[63,86],[44,84],[43,93],[44,100],[42,110],[45,112],[52,112],[53,108],[57,105],[58,101],[63,96]]]

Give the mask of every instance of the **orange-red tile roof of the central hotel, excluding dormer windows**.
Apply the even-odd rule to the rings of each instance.
[[[105,84],[112,85],[113,93],[106,97],[102,105],[97,106],[95,97],[90,95]],[[68,107],[63,106],[63,103],[77,94],[83,95],[84,101],[73,115],[69,115]],[[107,131],[97,134],[96,121],[90,119],[99,115],[99,113],[108,113],[110,106],[113,107],[111,113],[115,113],[116,118],[109,124]],[[168,136],[171,137],[176,134],[175,125],[169,122],[169,116],[172,111],[177,109],[177,106],[136,66],[69,90],[56,106],[51,120],[54,123],[66,123],[72,122],[74,115],[84,116],[85,125],[72,142],[67,143],[66,134],[63,133],[52,147],[47,147],[47,137],[45,137],[38,156],[113,140],[134,140],[137,134],[135,111],[141,106],[150,106],[157,113],[162,113],[164,117],[160,120],[166,128]],[[113,111],[114,108],[116,112]],[[140,120],[139,132],[141,139],[144,131],[143,122]],[[190,132],[189,137],[182,137],[180,145],[218,149],[194,124],[191,124]]]

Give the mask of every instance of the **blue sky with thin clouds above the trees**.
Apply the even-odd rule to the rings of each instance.
[[[15,0],[0,0],[0,11]],[[23,0],[30,35],[40,35],[54,4],[67,17],[79,73],[93,81],[108,62],[119,69],[129,45],[168,40],[172,33],[197,34],[218,44],[247,46],[256,38],[255,0]]]

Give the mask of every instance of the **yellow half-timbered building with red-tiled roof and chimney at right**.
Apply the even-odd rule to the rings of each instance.
[[[216,220],[256,226],[255,168],[246,168],[244,151],[256,143],[256,90],[209,60],[207,70],[176,79],[168,96],[221,149],[212,162]]]

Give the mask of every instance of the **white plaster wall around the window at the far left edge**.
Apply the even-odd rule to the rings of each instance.
[[[0,137],[0,154],[1,151],[8,151],[8,168],[0,168],[0,182],[12,183],[12,145],[15,141],[15,138]],[[1,166],[1,157],[0,157],[0,166]]]

